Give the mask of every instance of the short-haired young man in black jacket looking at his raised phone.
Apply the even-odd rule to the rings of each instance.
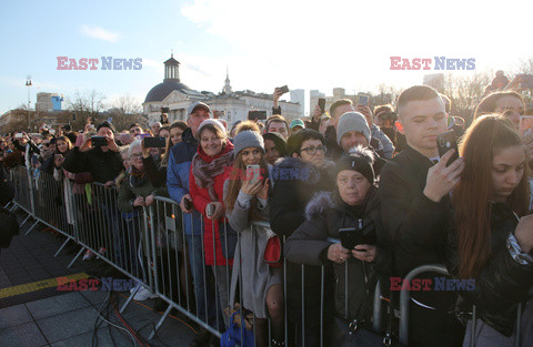
[[[398,111],[408,146],[383,167],[380,198],[383,225],[393,244],[394,273],[405,277],[421,265],[444,263],[450,192],[464,163],[459,159],[446,166],[453,151],[439,157],[436,136],[446,131],[447,114],[435,90],[415,85],[403,91]],[[455,293],[411,292],[411,297],[409,346],[462,345],[464,328],[449,314]]]

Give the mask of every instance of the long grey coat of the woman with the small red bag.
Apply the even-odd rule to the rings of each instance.
[[[270,181],[272,182],[272,181]],[[224,198],[228,194],[229,181],[224,182]],[[263,261],[264,247],[271,235],[270,228],[254,226],[253,233],[249,221],[252,202],[258,203],[260,214],[264,221],[269,220],[269,202],[251,200],[252,196],[240,193],[233,210],[227,208],[227,217],[231,227],[239,233],[231,276],[230,305],[234,303],[238,278],[242,278],[242,304],[253,312],[258,318],[266,318],[266,292],[274,284],[282,283],[282,269],[271,268]],[[242,271],[241,277],[239,272]]]

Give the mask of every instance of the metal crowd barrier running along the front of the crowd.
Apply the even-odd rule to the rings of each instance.
[[[199,236],[190,236],[183,233],[184,217],[174,201],[155,196],[151,206],[135,208],[134,213],[121,213],[118,210],[118,192],[114,188],[107,188],[102,184],[84,184],[82,190],[73,191],[69,180],[56,181],[44,173],[28,171],[26,167],[11,170],[11,180],[16,185],[16,197],[13,208],[20,207],[28,213],[26,223],[30,217],[37,223],[43,223],[67,237],[56,256],[61,252],[69,241],[81,245],[82,248],[69,264],[69,267],[86,251],[90,251],[102,261],[113,266],[128,277],[137,280],[151,293],[169,304],[163,316],[154,326],[150,338],[157,334],[172,308],[194,320],[197,324],[220,337],[220,331],[228,327],[228,315],[224,314],[224,306],[233,306],[230,302],[230,286],[232,266],[229,261],[213,271],[205,265],[204,249],[204,225],[201,216],[202,233]],[[190,220],[192,223],[192,220]],[[214,222],[213,222],[214,224]],[[32,227],[33,227],[32,226]],[[214,226],[214,225],[213,225]],[[31,227],[31,228],[32,228]],[[31,231],[30,228],[30,231]],[[191,225],[192,228],[192,225]],[[213,253],[217,258],[217,245],[213,229]],[[220,227],[224,237],[220,236],[222,247],[228,247],[229,238],[227,225]],[[266,222],[251,223],[252,241],[258,232],[270,229]],[[28,233],[30,232],[28,231]],[[28,234],[27,233],[27,234]],[[237,233],[237,244],[240,248],[241,235]],[[241,258],[241,254],[235,255]],[[257,257],[257,249],[253,248],[252,257]],[[200,261],[200,264],[198,262]],[[348,264],[348,263],[346,263]],[[301,334],[301,345],[305,346],[306,331],[295,331],[289,326],[286,276],[288,263],[283,262],[283,303],[284,303],[284,339],[294,338]],[[305,327],[305,267],[301,265],[301,326]],[[195,273],[195,275],[193,274]],[[413,269],[402,285],[400,294],[400,341],[404,345],[409,341],[409,302],[410,293],[404,290],[406,283],[424,272],[438,272],[447,275],[442,265],[424,265]],[[345,275],[349,275],[348,265]],[[242,267],[238,274],[239,292],[242,293]],[[211,282],[211,279],[214,279]],[[325,267],[320,269],[320,346],[324,346],[324,284]],[[202,286],[201,289],[194,285]],[[348,279],[345,282],[348,286]],[[225,286],[225,290],[220,288]],[[214,288],[214,293],[211,289]],[[120,312],[123,312],[134,295],[140,289],[130,294]],[[201,297],[197,296],[202,293]],[[225,293],[224,293],[225,292]],[[348,289],[345,289],[348,293]],[[239,296],[240,307],[242,296]],[[382,294],[378,283],[373,295],[373,320],[372,328],[382,331]],[[345,304],[348,312],[348,300]],[[392,309],[392,312],[394,312]],[[475,331],[475,307],[473,308],[473,330]],[[521,306],[517,316],[517,336],[520,336]],[[269,341],[271,340],[271,324],[268,325]],[[257,326],[253,325],[253,334],[257,336]],[[472,335],[471,346],[475,346],[475,336]],[[516,344],[519,346],[519,343]]]

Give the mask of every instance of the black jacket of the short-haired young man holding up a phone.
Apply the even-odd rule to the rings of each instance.
[[[447,231],[451,220],[450,196],[439,203],[424,194],[432,162],[408,146],[381,171],[381,218],[393,245],[395,276],[405,275],[425,264],[445,264]],[[426,273],[416,278],[433,279],[440,274]],[[453,292],[412,292],[418,302],[449,312],[456,295]]]

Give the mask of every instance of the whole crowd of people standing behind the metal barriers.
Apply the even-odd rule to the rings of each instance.
[[[130,248],[143,232],[140,208],[169,196],[182,212],[185,242],[174,247],[188,255],[180,266],[192,277],[198,317],[223,331],[227,308],[241,300],[258,346],[320,346],[321,338],[336,346],[339,322],[372,329],[378,279],[392,300],[389,279],[425,264],[444,264],[451,278],[475,279],[475,288],[412,292],[409,346],[469,346],[471,334],[476,346],[533,345],[533,134],[521,129],[519,92],[487,93],[470,126],[451,115],[450,98],[425,85],[404,90],[394,106],[336,100],[329,112],[318,105],[309,121],[291,123],[275,102],[281,94],[264,124],[229,126],[193,102],[185,122],[149,129],[134,123],[118,133],[103,122],[80,133],[64,125],[56,134],[8,134],[0,177],[26,165],[69,180],[62,193],[78,195],[74,202],[87,200],[87,183],[115,187],[117,201],[94,200],[118,265],[130,268],[138,268],[125,263],[137,262]],[[441,152],[447,132],[459,147]],[[147,134],[165,137],[165,146],[147,146]],[[124,231],[129,242],[120,242]],[[264,259],[276,236],[285,274]],[[212,338],[203,330],[193,346]]]

